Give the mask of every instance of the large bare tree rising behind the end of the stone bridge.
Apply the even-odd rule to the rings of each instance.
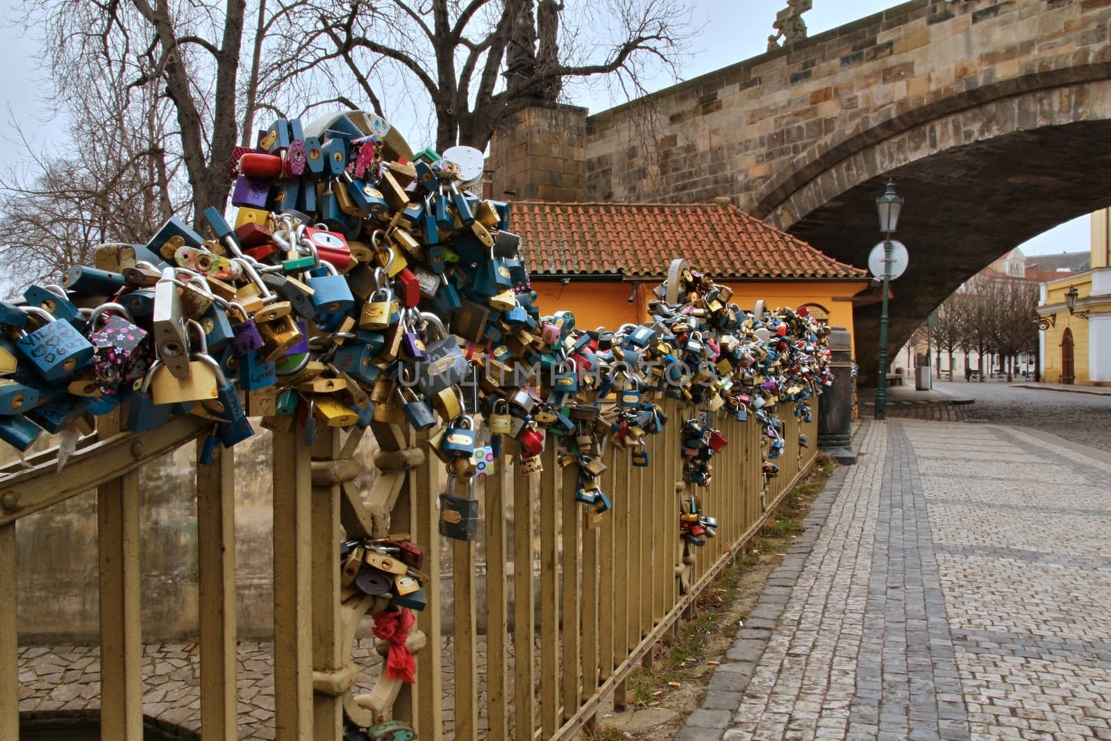
[[[431,103],[438,148],[484,149],[507,117],[553,102],[569,79],[618,76],[642,91],[648,67],[674,71],[690,37],[689,11],[667,0],[570,10],[556,0],[316,0],[283,24],[280,46],[297,63],[274,59],[282,69],[263,76],[293,81],[311,69],[337,83],[332,102],[362,98],[387,117],[384,92],[412,87]]]

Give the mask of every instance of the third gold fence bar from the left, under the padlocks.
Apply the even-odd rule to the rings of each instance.
[[[204,441],[197,442],[200,455]],[[239,738],[236,684],[236,452],[197,467],[201,735]]]

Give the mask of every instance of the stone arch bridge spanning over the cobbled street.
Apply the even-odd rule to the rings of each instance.
[[[1111,0],[912,0],[591,116],[581,150],[556,148],[581,151],[580,168],[560,181],[543,172],[558,162],[533,158],[532,177],[579,172],[582,200],[728,194],[857,266],[893,177],[911,252],[892,287],[894,350],[992,260],[1111,204],[1109,21]],[[573,200],[549,190],[531,194]],[[873,377],[878,317],[855,310]]]

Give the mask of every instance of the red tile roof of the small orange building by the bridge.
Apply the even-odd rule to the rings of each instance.
[[[539,274],[662,278],[683,257],[719,280],[868,276],[732,204],[516,201],[510,229]]]

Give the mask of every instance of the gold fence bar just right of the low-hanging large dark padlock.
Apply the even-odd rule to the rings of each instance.
[[[487,698],[491,739],[509,738],[509,599],[507,507],[509,475],[498,460],[486,478]]]

